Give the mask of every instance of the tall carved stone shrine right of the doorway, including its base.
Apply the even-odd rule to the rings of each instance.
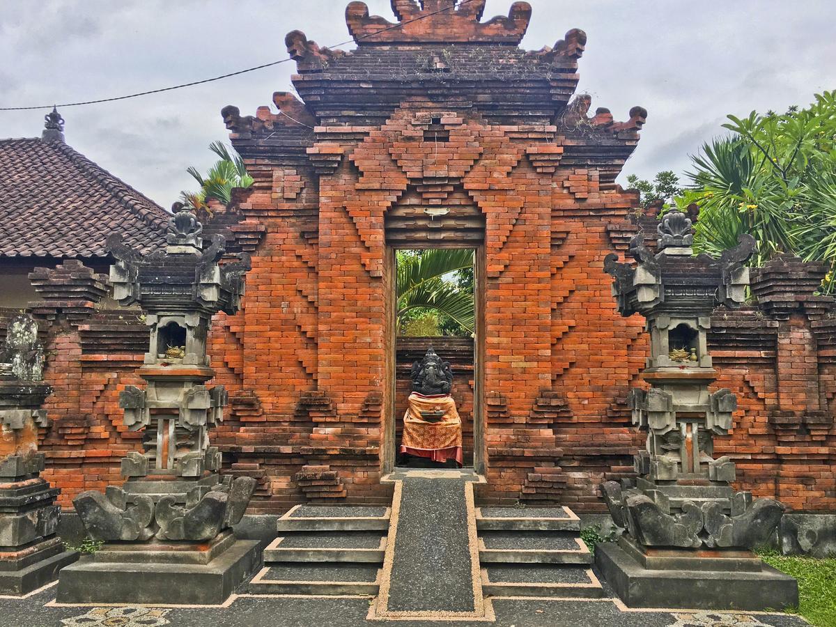
[[[635,267],[610,255],[604,269],[623,316],[641,314],[650,357],[629,402],[633,424],[647,431],[635,456],[633,482],[601,487],[613,521],[625,528],[618,544],[599,545],[604,577],[630,607],[782,609],[798,604],[794,579],[762,563],[752,548],[766,544],[784,507],[738,492],[735,464],[714,458],[714,437],[732,429],[737,398],[709,391],[717,379],[706,334],[717,306],[746,299],[744,265],[755,241],[744,235],[719,259],[693,256],[691,219],[671,211],[658,229],[658,252],[644,233],[630,242]]]

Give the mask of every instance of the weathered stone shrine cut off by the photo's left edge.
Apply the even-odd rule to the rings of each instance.
[[[28,594],[77,557],[55,535],[58,488],[40,477],[38,430],[48,426],[43,346],[27,315],[13,318],[0,349],[0,594]]]

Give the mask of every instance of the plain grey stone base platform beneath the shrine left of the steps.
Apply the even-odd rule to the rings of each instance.
[[[115,556],[108,552],[106,557]],[[59,603],[220,605],[261,565],[256,540],[237,540],[208,563],[82,558],[60,573]]]

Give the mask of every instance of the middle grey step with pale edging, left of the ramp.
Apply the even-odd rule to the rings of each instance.
[[[383,563],[385,549],[375,532],[285,533],[264,549],[264,563]]]

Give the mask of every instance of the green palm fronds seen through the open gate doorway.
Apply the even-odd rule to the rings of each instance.
[[[456,280],[456,273],[468,269],[472,273],[472,268],[470,250],[399,251],[398,332],[414,335],[418,329],[421,333],[438,329],[436,334],[472,334],[476,324],[473,290]],[[421,324],[415,322],[422,319]]]

